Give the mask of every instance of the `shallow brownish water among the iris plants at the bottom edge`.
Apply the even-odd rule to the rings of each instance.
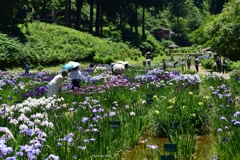
[[[138,143],[133,149],[127,150],[122,160],[160,160],[164,154],[163,144],[169,143],[167,138],[147,137],[148,142]],[[211,157],[212,143],[210,136],[197,136],[196,160],[209,160]],[[157,145],[158,149],[152,150],[147,145]]]

